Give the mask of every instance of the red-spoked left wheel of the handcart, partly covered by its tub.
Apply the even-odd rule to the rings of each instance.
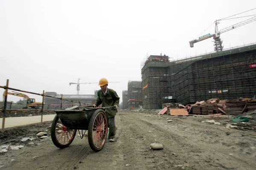
[[[61,120],[56,115],[52,121],[51,137],[52,142],[56,147],[68,147],[76,136],[76,129],[69,129],[64,126]]]

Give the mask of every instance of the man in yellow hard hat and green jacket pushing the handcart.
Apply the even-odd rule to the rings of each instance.
[[[106,110],[106,114],[108,116],[108,139],[109,142],[115,141],[116,135],[116,124],[115,124],[115,116],[117,113],[117,108],[119,106],[119,96],[116,94],[116,91],[108,88],[108,80],[102,78],[99,80],[99,86],[101,90],[97,93],[97,99],[95,102],[95,107],[98,107],[102,104],[102,107],[114,106],[114,108],[109,108]]]

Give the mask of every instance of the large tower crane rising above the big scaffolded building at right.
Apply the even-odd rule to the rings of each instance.
[[[254,9],[256,9],[256,8],[254,8]],[[251,10],[253,10],[253,9],[251,9]],[[251,11],[251,10],[249,10],[249,11]],[[245,12],[247,12],[247,11],[245,11]],[[242,13],[244,13],[244,12],[242,12]],[[236,15],[238,15],[238,14],[236,14]],[[230,17],[233,17],[233,16],[235,16],[235,15],[232,15]],[[249,16],[253,16],[253,15],[249,15]],[[244,17],[249,17],[249,16],[244,16]],[[223,18],[221,20],[235,19],[235,18],[229,18],[229,19],[227,19],[227,18],[229,18],[229,17]],[[240,17],[236,17],[236,18],[240,18]],[[244,26],[244,25],[246,25],[248,23],[256,21],[256,16],[255,17],[251,17],[250,19],[244,20],[244,21],[242,21],[240,23],[236,23],[236,24],[234,24],[232,26],[229,26],[227,28],[221,29],[220,31],[218,31],[219,21],[220,20],[216,20],[214,22],[215,23],[215,32],[214,32],[214,34],[206,34],[206,35],[203,35],[203,36],[199,37],[196,40],[189,41],[190,47],[191,48],[194,47],[194,44],[196,42],[200,42],[200,41],[203,41],[203,40],[206,40],[208,38],[213,37],[213,39],[214,39],[214,51],[222,51],[223,46],[222,46],[222,41],[221,41],[220,35],[223,34],[224,32],[233,30],[234,28],[238,28],[240,26]]]

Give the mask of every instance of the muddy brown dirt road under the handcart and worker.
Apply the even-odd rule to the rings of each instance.
[[[170,119],[172,121],[167,122]],[[51,122],[22,127],[20,131],[12,129],[9,130],[12,136],[0,138],[0,145],[23,144],[25,147],[2,153],[0,169],[254,170],[255,126],[238,123],[236,126],[242,127],[239,130],[226,127],[230,123],[228,118],[215,119],[221,125],[202,122],[205,120],[208,119],[199,116],[159,117],[157,111],[119,111],[116,142],[106,142],[97,153],[90,149],[87,137],[76,136],[64,149],[55,147],[50,137],[20,142],[21,137],[36,138],[35,134],[40,131],[49,133]],[[163,150],[150,149],[154,142],[163,144]]]

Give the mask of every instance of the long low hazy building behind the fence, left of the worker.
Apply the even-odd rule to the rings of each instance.
[[[45,92],[45,95],[59,98],[59,99],[56,99],[51,97],[45,97],[44,102],[45,102],[46,109],[61,108],[61,94],[57,94],[56,92]],[[95,94],[79,94],[79,95],[63,94],[62,98],[76,101],[76,102],[71,102],[71,101],[62,100],[62,108],[70,108],[74,105],[79,106],[79,103],[77,102],[85,103],[86,105],[93,105],[97,99],[97,91],[95,91]]]

